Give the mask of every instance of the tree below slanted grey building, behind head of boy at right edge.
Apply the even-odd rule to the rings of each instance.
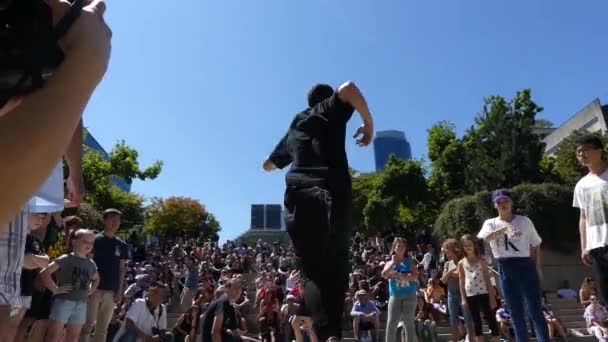
[[[576,139],[588,134],[599,137],[604,142],[604,146],[608,146],[608,132],[590,133],[585,130],[573,131],[562,140],[555,151],[554,170],[561,182],[574,186],[576,182],[587,174],[587,168],[582,166],[576,158]]]

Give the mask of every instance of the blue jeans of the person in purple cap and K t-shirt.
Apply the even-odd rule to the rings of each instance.
[[[539,342],[548,342],[549,331],[541,307],[540,280],[534,261],[531,258],[502,258],[497,262],[502,293],[511,310],[515,340],[517,342],[529,340],[525,301],[536,338]]]

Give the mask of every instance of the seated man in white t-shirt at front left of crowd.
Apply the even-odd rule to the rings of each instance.
[[[167,308],[163,304],[166,289],[162,283],[153,283],[145,299],[133,302],[114,342],[173,341],[173,334],[167,331]]]

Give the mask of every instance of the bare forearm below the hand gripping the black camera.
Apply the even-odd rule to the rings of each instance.
[[[84,49],[72,51],[43,88],[0,117],[0,222],[19,212],[57,165],[101,79],[87,70]]]

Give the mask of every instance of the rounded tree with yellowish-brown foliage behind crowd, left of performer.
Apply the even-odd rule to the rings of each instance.
[[[188,197],[154,198],[146,210],[144,230],[164,237],[212,236],[219,222],[197,200]]]

